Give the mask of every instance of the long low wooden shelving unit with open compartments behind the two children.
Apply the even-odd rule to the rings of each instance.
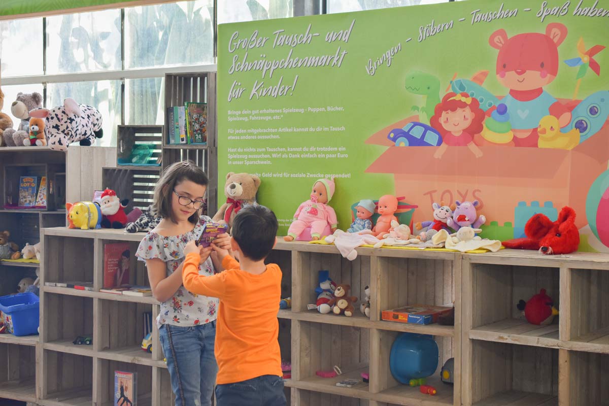
[[[62,247],[63,259],[45,256],[42,281],[82,276],[99,288],[104,243],[127,241],[135,251],[142,237],[105,229],[43,229],[44,247],[55,247],[54,251]],[[459,254],[358,248],[357,252],[357,259],[350,262],[332,246],[278,242],[268,259],[283,270],[282,296],[292,297],[292,308],[278,313],[282,359],[292,363],[292,378],[286,380],[289,404],[608,404],[609,385],[604,377],[609,365],[609,307],[604,299],[609,293],[609,256],[546,257],[511,250]],[[74,253],[80,253],[77,259]],[[144,267],[134,263],[132,269],[134,282],[146,284]],[[370,319],[359,309],[351,318],[307,310],[307,304],[315,301],[319,270],[328,270],[338,283],[350,284],[351,295],[359,298],[365,285],[370,285]],[[561,315],[549,326],[533,326],[519,318],[516,303],[542,287]],[[456,309],[454,327],[380,318],[383,309],[450,302]],[[154,318],[160,309],[154,299],[43,286],[41,304],[40,342],[0,336],[0,349],[16,345],[35,351],[38,385],[29,393],[17,393],[16,388],[22,388],[17,381],[31,389],[32,372],[24,369],[18,379],[0,382],[0,394],[10,393],[15,399],[29,396],[30,401],[34,396],[40,405],[109,405],[111,374],[127,369],[138,372],[143,404],[171,404],[169,374],[156,329],[152,354],[139,349],[141,313],[152,311]],[[92,332],[93,345],[73,345],[71,340],[85,330]],[[393,379],[389,352],[402,332],[433,335],[438,343],[438,370],[428,380],[437,388],[436,396],[423,395],[418,388]],[[440,368],[451,357],[455,359],[454,386],[439,379]],[[315,375],[334,365],[340,366],[342,376]],[[76,372],[67,373],[66,368]],[[335,385],[364,371],[370,374],[369,383],[352,388]]]

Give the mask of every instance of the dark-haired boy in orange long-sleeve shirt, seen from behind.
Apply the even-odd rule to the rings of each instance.
[[[264,206],[246,206],[234,217],[231,248],[186,244],[182,270],[189,292],[220,299],[216,326],[217,406],[285,406],[277,312],[281,270],[264,264],[275,246],[275,214]],[[214,250],[225,269],[199,275],[199,263]]]

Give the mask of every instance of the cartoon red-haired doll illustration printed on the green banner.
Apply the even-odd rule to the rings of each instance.
[[[435,106],[430,120],[443,139],[434,158],[442,158],[448,147],[468,147],[476,158],[480,158],[482,151],[474,144],[474,135],[482,131],[484,117],[484,111],[474,97],[467,93],[446,93],[442,102]]]

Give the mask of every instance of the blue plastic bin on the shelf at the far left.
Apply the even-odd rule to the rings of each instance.
[[[38,334],[40,299],[33,293],[2,296],[0,312],[10,334],[18,336]]]

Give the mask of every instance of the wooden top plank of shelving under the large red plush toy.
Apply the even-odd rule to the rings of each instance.
[[[474,264],[609,270],[609,254],[602,253],[543,255],[530,250],[499,250],[496,253],[463,254],[463,257]]]

